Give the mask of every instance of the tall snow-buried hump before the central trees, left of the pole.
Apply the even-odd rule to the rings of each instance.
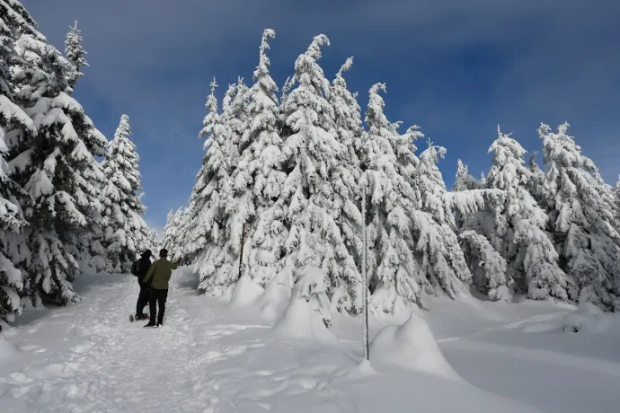
[[[273,326],[274,332],[289,338],[311,338],[336,344],[331,325],[330,303],[325,293],[327,274],[321,268],[305,266],[297,270],[297,280],[285,310]]]

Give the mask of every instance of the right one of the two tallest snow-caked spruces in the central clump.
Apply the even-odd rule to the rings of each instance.
[[[335,113],[329,99],[330,83],[317,60],[321,47],[329,44],[324,35],[314,37],[295,63],[295,87],[288,94],[282,111],[282,132],[288,177],[278,204],[285,211],[288,239],[285,265],[300,268],[313,265],[328,275],[327,291],[347,291],[349,302],[335,303],[339,310],[359,312],[361,278],[337,222],[342,201],[332,176],[347,151],[339,142]],[[349,204],[347,204],[349,205]]]

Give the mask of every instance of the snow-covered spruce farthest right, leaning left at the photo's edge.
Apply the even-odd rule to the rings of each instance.
[[[545,124],[538,128],[545,161],[541,206],[549,215],[560,267],[577,285],[580,303],[613,310],[620,295],[620,234],[596,166],[567,135],[568,127],[565,123],[555,133]]]

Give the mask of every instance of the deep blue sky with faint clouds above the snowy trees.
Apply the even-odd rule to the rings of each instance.
[[[75,89],[109,139],[127,113],[141,156],[146,221],[161,230],[187,203],[203,156],[197,139],[217,77],[221,96],[250,82],[261,32],[274,29],[271,69],[281,84],[312,37],[332,45],[330,78],[346,57],[350,89],[387,83],[386,113],[418,124],[478,175],[497,125],[528,151],[536,127],[568,121],[609,183],[620,173],[620,2],[616,0],[22,0],[60,50],[77,20],[90,64]],[[419,147],[425,145],[421,142]]]

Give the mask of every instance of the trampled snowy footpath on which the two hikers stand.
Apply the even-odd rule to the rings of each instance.
[[[196,399],[187,397],[188,388],[199,391],[192,380],[202,373],[193,361],[196,338],[187,313],[172,296],[169,326],[145,330],[143,323],[130,324],[137,288],[135,279],[127,281],[115,289],[120,294],[93,295],[28,328],[30,341],[36,341],[40,330],[48,333],[52,323],[64,337],[49,337],[49,348],[28,341],[22,345],[22,351],[45,357],[2,380],[0,410],[198,411]],[[29,401],[23,405],[22,400]]]

